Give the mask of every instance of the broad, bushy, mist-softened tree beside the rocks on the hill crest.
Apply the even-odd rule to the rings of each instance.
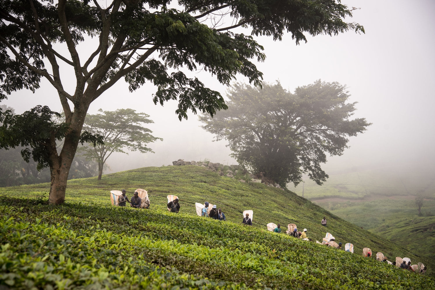
[[[296,186],[302,173],[318,184],[328,175],[321,169],[326,154],[341,155],[347,136],[370,125],[365,118],[350,120],[355,103],[339,83],[320,80],[290,93],[280,83],[261,90],[236,83],[228,93],[228,110],[213,118],[202,115],[202,126],[226,139],[239,164],[251,168],[281,187]]]

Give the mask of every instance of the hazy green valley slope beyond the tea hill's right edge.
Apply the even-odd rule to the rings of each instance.
[[[294,188],[298,195],[412,252],[435,259],[435,180],[394,168],[332,173],[324,185],[312,181]],[[415,195],[425,197],[418,217]],[[418,223],[418,224],[417,224]]]

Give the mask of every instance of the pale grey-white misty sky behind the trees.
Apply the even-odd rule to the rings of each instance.
[[[355,117],[365,117],[373,124],[364,134],[351,138],[351,148],[343,156],[328,159],[324,166],[327,173],[328,169],[391,163],[397,164],[399,170],[433,164],[435,1],[342,0],[342,3],[361,7],[347,21],[362,24],[365,34],[308,37],[308,43],[299,46],[291,35],[281,42],[258,37],[266,54],[265,62],[258,63],[264,81],[280,80],[291,92],[318,79],[348,86],[350,101],[358,102]],[[82,52],[87,52],[87,48],[82,47]],[[198,71],[195,76],[224,95],[226,87],[207,72]],[[238,81],[245,80],[240,77]],[[75,83],[69,85],[72,89]],[[88,113],[97,113],[100,108],[133,108],[147,113],[155,122],[147,127],[154,136],[164,139],[150,144],[154,154],[110,157],[107,163],[113,171],[168,165],[179,158],[236,163],[228,156],[231,152],[226,143],[212,142],[213,136],[199,127],[201,124],[193,113],[180,122],[174,113],[176,102],[155,106],[151,97],[155,90],[148,85],[129,93],[127,84],[120,80],[91,104]],[[13,107],[16,113],[39,104],[61,110],[57,93],[47,81],[41,83],[35,94],[24,90],[13,93],[2,104]]]

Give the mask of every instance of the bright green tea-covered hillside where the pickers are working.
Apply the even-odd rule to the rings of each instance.
[[[435,261],[342,220],[289,191],[241,183],[201,167],[147,167],[70,180],[64,205],[46,204],[46,183],[1,189],[3,289],[432,289]],[[113,207],[109,191],[148,190],[150,210]],[[181,212],[166,210],[166,196]],[[221,222],[195,214],[217,204]],[[243,210],[253,227],[242,226]],[[328,227],[320,220],[328,218]],[[313,242],[265,230],[269,222],[308,228]],[[318,245],[326,231],[355,253]],[[362,257],[409,257],[425,275]]]

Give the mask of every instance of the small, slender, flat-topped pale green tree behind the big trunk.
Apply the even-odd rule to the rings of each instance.
[[[103,174],[104,163],[114,152],[126,153],[124,150],[141,153],[153,152],[147,143],[163,140],[151,135],[152,131],[144,124],[154,123],[145,113],[136,113],[133,109],[118,109],[114,112],[98,110],[102,114],[87,114],[83,130],[103,137],[104,144],[80,148],[88,160],[98,163],[98,180]],[[153,152],[154,153],[154,152]]]

